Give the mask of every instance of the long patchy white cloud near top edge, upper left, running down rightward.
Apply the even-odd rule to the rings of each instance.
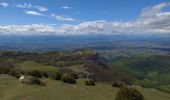
[[[27,8],[27,9],[38,9],[41,12],[45,12],[48,11],[48,8],[42,7],[42,6],[38,6],[38,5],[32,5],[32,4],[28,4],[28,3],[24,3],[24,4],[18,4],[15,7],[18,8]]]

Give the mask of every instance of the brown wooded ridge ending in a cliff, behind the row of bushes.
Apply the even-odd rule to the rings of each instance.
[[[38,71],[41,76],[45,77],[47,74],[55,72],[75,73],[81,78],[85,78],[85,74],[92,73],[93,79],[96,81],[132,83],[132,80],[126,75],[114,72],[100,63],[98,58],[98,53],[92,49],[42,53],[2,51],[0,54],[0,73],[8,74],[12,71],[31,75],[34,71]]]

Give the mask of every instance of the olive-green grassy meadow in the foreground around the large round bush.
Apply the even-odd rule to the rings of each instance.
[[[47,86],[21,84],[13,77],[1,76],[0,100],[114,100],[118,90],[100,83],[95,87],[85,86],[81,80],[78,81],[77,88],[51,79],[43,81]],[[1,86],[2,84],[6,86]],[[169,94],[140,87],[137,89],[144,94],[146,100],[170,100]]]

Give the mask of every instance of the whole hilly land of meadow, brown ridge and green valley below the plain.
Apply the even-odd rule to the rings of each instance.
[[[112,84],[118,83],[136,88],[146,100],[169,100],[169,94],[158,91],[169,92],[168,70],[169,56],[118,56],[108,60],[91,49],[1,51],[0,99],[114,100],[119,89]],[[20,83],[22,75],[26,79]],[[95,86],[86,86],[87,81]]]

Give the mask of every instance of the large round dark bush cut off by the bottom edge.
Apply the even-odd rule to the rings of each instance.
[[[116,94],[115,100],[145,100],[143,95],[133,88],[122,87]]]

